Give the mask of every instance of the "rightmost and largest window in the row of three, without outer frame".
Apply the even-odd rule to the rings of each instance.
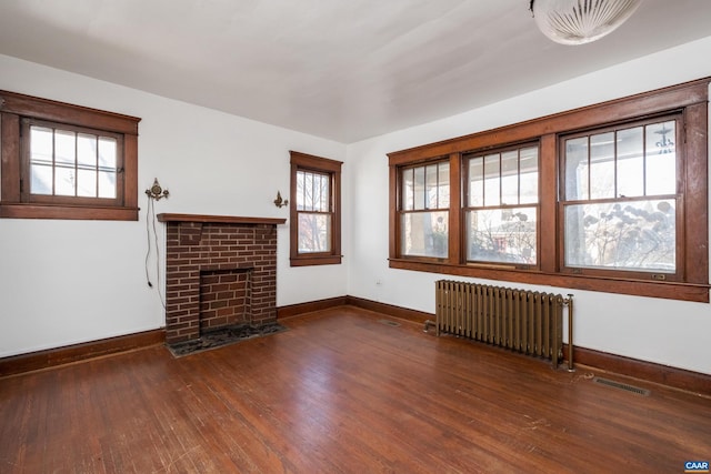
[[[682,274],[678,122],[680,115],[561,138],[564,269]]]

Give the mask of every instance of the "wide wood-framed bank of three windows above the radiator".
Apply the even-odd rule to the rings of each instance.
[[[389,153],[390,266],[709,302],[709,82]]]

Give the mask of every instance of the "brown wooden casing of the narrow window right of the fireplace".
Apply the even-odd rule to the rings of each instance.
[[[291,154],[291,192],[289,196],[290,225],[289,248],[290,265],[333,265],[341,263],[341,165],[340,161],[311,154],[290,151]],[[314,209],[299,209],[298,179],[299,174],[322,178],[328,188],[328,198]],[[321,200],[319,200],[321,201]],[[301,251],[299,249],[300,215],[318,215],[327,219],[330,226],[327,250]]]

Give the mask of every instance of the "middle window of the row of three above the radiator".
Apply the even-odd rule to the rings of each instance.
[[[465,154],[467,261],[537,265],[538,147]]]

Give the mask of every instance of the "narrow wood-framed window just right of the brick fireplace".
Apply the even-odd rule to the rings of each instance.
[[[341,263],[341,164],[291,152],[291,266]]]

